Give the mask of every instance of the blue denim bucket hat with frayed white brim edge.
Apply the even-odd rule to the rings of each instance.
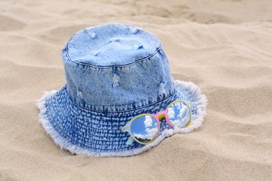
[[[162,43],[148,31],[127,24],[86,28],[70,38],[61,56],[66,84],[36,103],[40,123],[61,148],[77,155],[131,156],[202,125],[206,96],[199,86],[172,78]],[[126,144],[126,123],[175,100],[190,101],[188,127],[170,127],[163,118],[156,141]]]

